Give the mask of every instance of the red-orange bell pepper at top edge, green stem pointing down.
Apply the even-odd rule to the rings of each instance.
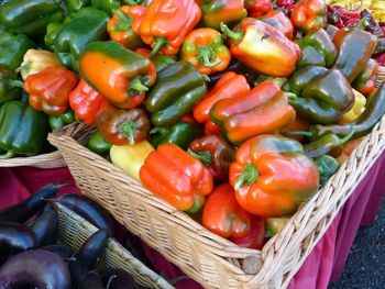
[[[153,0],[142,18],[139,33],[144,43],[163,54],[175,55],[188,32],[199,22],[201,11],[194,0]]]

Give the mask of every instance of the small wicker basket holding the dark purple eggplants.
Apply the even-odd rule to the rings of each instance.
[[[79,249],[86,240],[98,231],[95,225],[64,205],[58,203],[55,208],[58,212],[57,238],[59,243],[73,249]],[[129,271],[139,284],[145,287],[174,289],[163,277],[148,269],[113,238],[109,240],[97,270],[103,268],[119,268]]]

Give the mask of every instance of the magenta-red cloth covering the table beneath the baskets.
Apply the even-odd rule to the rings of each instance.
[[[360,225],[370,225],[384,197],[385,153],[367,173],[354,193],[346,201],[336,220],[308,256],[288,288],[327,288],[329,281],[338,280]],[[33,167],[0,168],[0,209],[20,202],[48,182],[74,184],[67,168],[37,169]],[[61,193],[77,192],[63,188]],[[124,229],[121,227],[120,233]],[[118,236],[119,238],[119,236]],[[183,273],[165,260],[157,252],[143,244],[147,256],[168,278]],[[176,288],[201,288],[193,280],[184,280]]]

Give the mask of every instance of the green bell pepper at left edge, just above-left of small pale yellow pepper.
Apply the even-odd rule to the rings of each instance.
[[[0,65],[15,70],[23,62],[28,49],[33,48],[34,43],[25,35],[14,35],[10,32],[0,34]]]

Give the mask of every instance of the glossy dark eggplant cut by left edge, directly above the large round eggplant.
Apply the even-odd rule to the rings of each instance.
[[[16,222],[0,222],[0,262],[36,246],[35,233]]]

